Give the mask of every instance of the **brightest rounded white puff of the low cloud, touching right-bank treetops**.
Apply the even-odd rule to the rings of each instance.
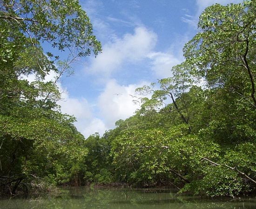
[[[133,102],[133,100],[137,99],[134,97],[135,89],[145,84],[126,86],[117,84],[114,79],[108,81],[98,101],[100,114],[108,128],[113,128],[117,120],[126,119],[135,113],[136,109],[139,108],[138,104]]]

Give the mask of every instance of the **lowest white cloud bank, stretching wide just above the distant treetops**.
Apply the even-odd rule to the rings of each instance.
[[[98,97],[98,102],[92,108],[86,100],[67,98],[66,105],[61,104],[61,111],[72,114],[77,118],[75,123],[78,131],[85,137],[95,132],[102,134],[115,128],[115,122],[132,116],[139,108],[133,100],[139,99],[135,89],[141,84],[119,85],[115,79],[108,80],[105,89]],[[74,109],[75,108],[75,109]]]

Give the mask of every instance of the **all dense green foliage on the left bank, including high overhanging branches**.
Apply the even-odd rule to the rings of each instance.
[[[44,52],[44,41],[69,59]],[[91,51],[101,45],[77,0],[0,0],[0,193],[78,184],[88,149],[74,118],[60,112],[56,82]]]

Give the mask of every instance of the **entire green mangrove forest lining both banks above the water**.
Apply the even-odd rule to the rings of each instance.
[[[207,7],[173,76],[138,88],[134,116],[85,139],[57,80],[100,52],[79,1],[0,0],[1,195],[95,184],[255,195],[256,1]]]

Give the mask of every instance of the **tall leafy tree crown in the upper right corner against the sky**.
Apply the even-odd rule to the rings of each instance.
[[[236,93],[241,102],[253,108],[255,11],[254,1],[206,8],[198,23],[200,32],[184,47],[193,75],[204,78],[209,87]]]

